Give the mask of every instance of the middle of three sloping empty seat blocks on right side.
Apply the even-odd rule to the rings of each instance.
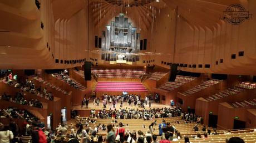
[[[211,85],[218,84],[220,81],[221,80],[218,80],[218,79],[206,80],[203,83],[194,86],[194,88],[184,91],[182,94],[186,96],[186,95],[191,95],[191,94],[197,93],[198,91],[208,88]]]

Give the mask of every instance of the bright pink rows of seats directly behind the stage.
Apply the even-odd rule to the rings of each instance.
[[[147,91],[147,89],[140,82],[99,81],[95,91]]]

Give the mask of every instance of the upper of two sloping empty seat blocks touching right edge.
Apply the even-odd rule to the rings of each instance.
[[[218,100],[218,99],[230,96],[230,95],[242,93],[245,90],[253,89],[253,88],[255,88],[255,84],[249,84],[249,83],[244,83],[244,82],[239,83],[238,85],[235,85],[232,88],[225,89],[219,93],[209,96],[208,98],[206,98],[206,100],[208,100],[208,101]]]

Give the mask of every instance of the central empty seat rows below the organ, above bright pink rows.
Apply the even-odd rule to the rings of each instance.
[[[82,76],[83,71],[79,71]],[[98,78],[141,78],[145,69],[92,69],[92,74]]]

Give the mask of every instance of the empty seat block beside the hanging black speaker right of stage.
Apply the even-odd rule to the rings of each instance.
[[[163,85],[161,85],[159,88],[167,91],[174,90],[176,88],[179,88],[181,85],[185,83],[189,83],[190,81],[194,80],[195,77],[191,76],[183,76],[183,75],[177,75],[175,81],[167,81]]]

